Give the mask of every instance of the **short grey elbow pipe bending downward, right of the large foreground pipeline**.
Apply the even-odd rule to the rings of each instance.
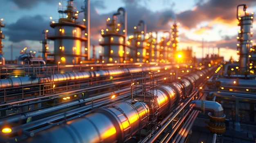
[[[191,103],[195,103],[195,108],[202,110],[213,111],[215,117],[223,117],[223,108],[220,103],[208,100],[193,100]]]

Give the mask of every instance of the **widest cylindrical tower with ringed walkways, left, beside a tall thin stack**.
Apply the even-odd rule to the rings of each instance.
[[[51,20],[50,26],[54,28],[54,33],[48,33],[47,38],[54,40],[54,63],[61,64],[79,64],[82,57],[87,58],[90,53],[85,47],[85,54],[82,54],[82,44],[88,38],[85,32],[84,22],[78,21],[78,13],[74,7],[74,0],[67,0],[67,6],[63,7],[59,3],[58,13],[62,16],[58,20]]]

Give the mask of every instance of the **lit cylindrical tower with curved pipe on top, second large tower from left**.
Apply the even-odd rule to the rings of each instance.
[[[117,13],[113,14],[112,19],[107,19],[107,29],[101,30],[103,41],[100,41],[99,44],[103,46],[102,62],[123,63],[125,61],[126,31],[126,11],[124,8],[119,8]]]

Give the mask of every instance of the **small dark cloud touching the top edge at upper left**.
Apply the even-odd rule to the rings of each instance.
[[[9,0],[14,2],[20,9],[31,9],[40,2],[52,4],[55,0]]]

